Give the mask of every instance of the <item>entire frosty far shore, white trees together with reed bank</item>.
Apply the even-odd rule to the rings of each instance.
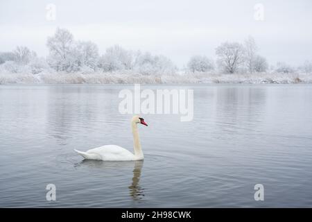
[[[312,60],[296,67],[285,62],[269,65],[251,36],[243,43],[221,43],[216,59],[194,55],[180,68],[166,56],[118,44],[101,55],[97,44],[75,40],[66,28],[56,28],[46,46],[46,58],[27,46],[0,52],[0,84],[312,83]]]

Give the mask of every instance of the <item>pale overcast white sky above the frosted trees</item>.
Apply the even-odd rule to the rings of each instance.
[[[46,19],[48,3],[56,6],[55,21]],[[264,21],[254,19],[256,3]],[[193,55],[215,58],[218,44],[248,35],[270,64],[312,60],[311,0],[0,0],[0,51],[25,45],[46,56],[46,37],[58,26],[95,42],[101,53],[120,44],[164,54],[179,67]]]

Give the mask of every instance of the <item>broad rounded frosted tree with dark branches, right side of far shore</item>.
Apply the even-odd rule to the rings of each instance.
[[[238,42],[225,42],[216,48],[218,66],[229,74],[239,70],[244,61],[244,48]]]

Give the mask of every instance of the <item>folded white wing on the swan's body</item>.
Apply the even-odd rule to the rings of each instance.
[[[97,148],[92,148],[86,153],[95,154],[105,161],[126,161],[135,160],[135,155],[121,146],[105,145]]]

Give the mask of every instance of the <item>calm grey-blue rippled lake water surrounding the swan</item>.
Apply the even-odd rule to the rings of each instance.
[[[0,207],[312,207],[312,85],[146,85],[193,89],[193,121],[142,115],[144,161],[83,161],[132,151],[124,87],[0,86]]]

